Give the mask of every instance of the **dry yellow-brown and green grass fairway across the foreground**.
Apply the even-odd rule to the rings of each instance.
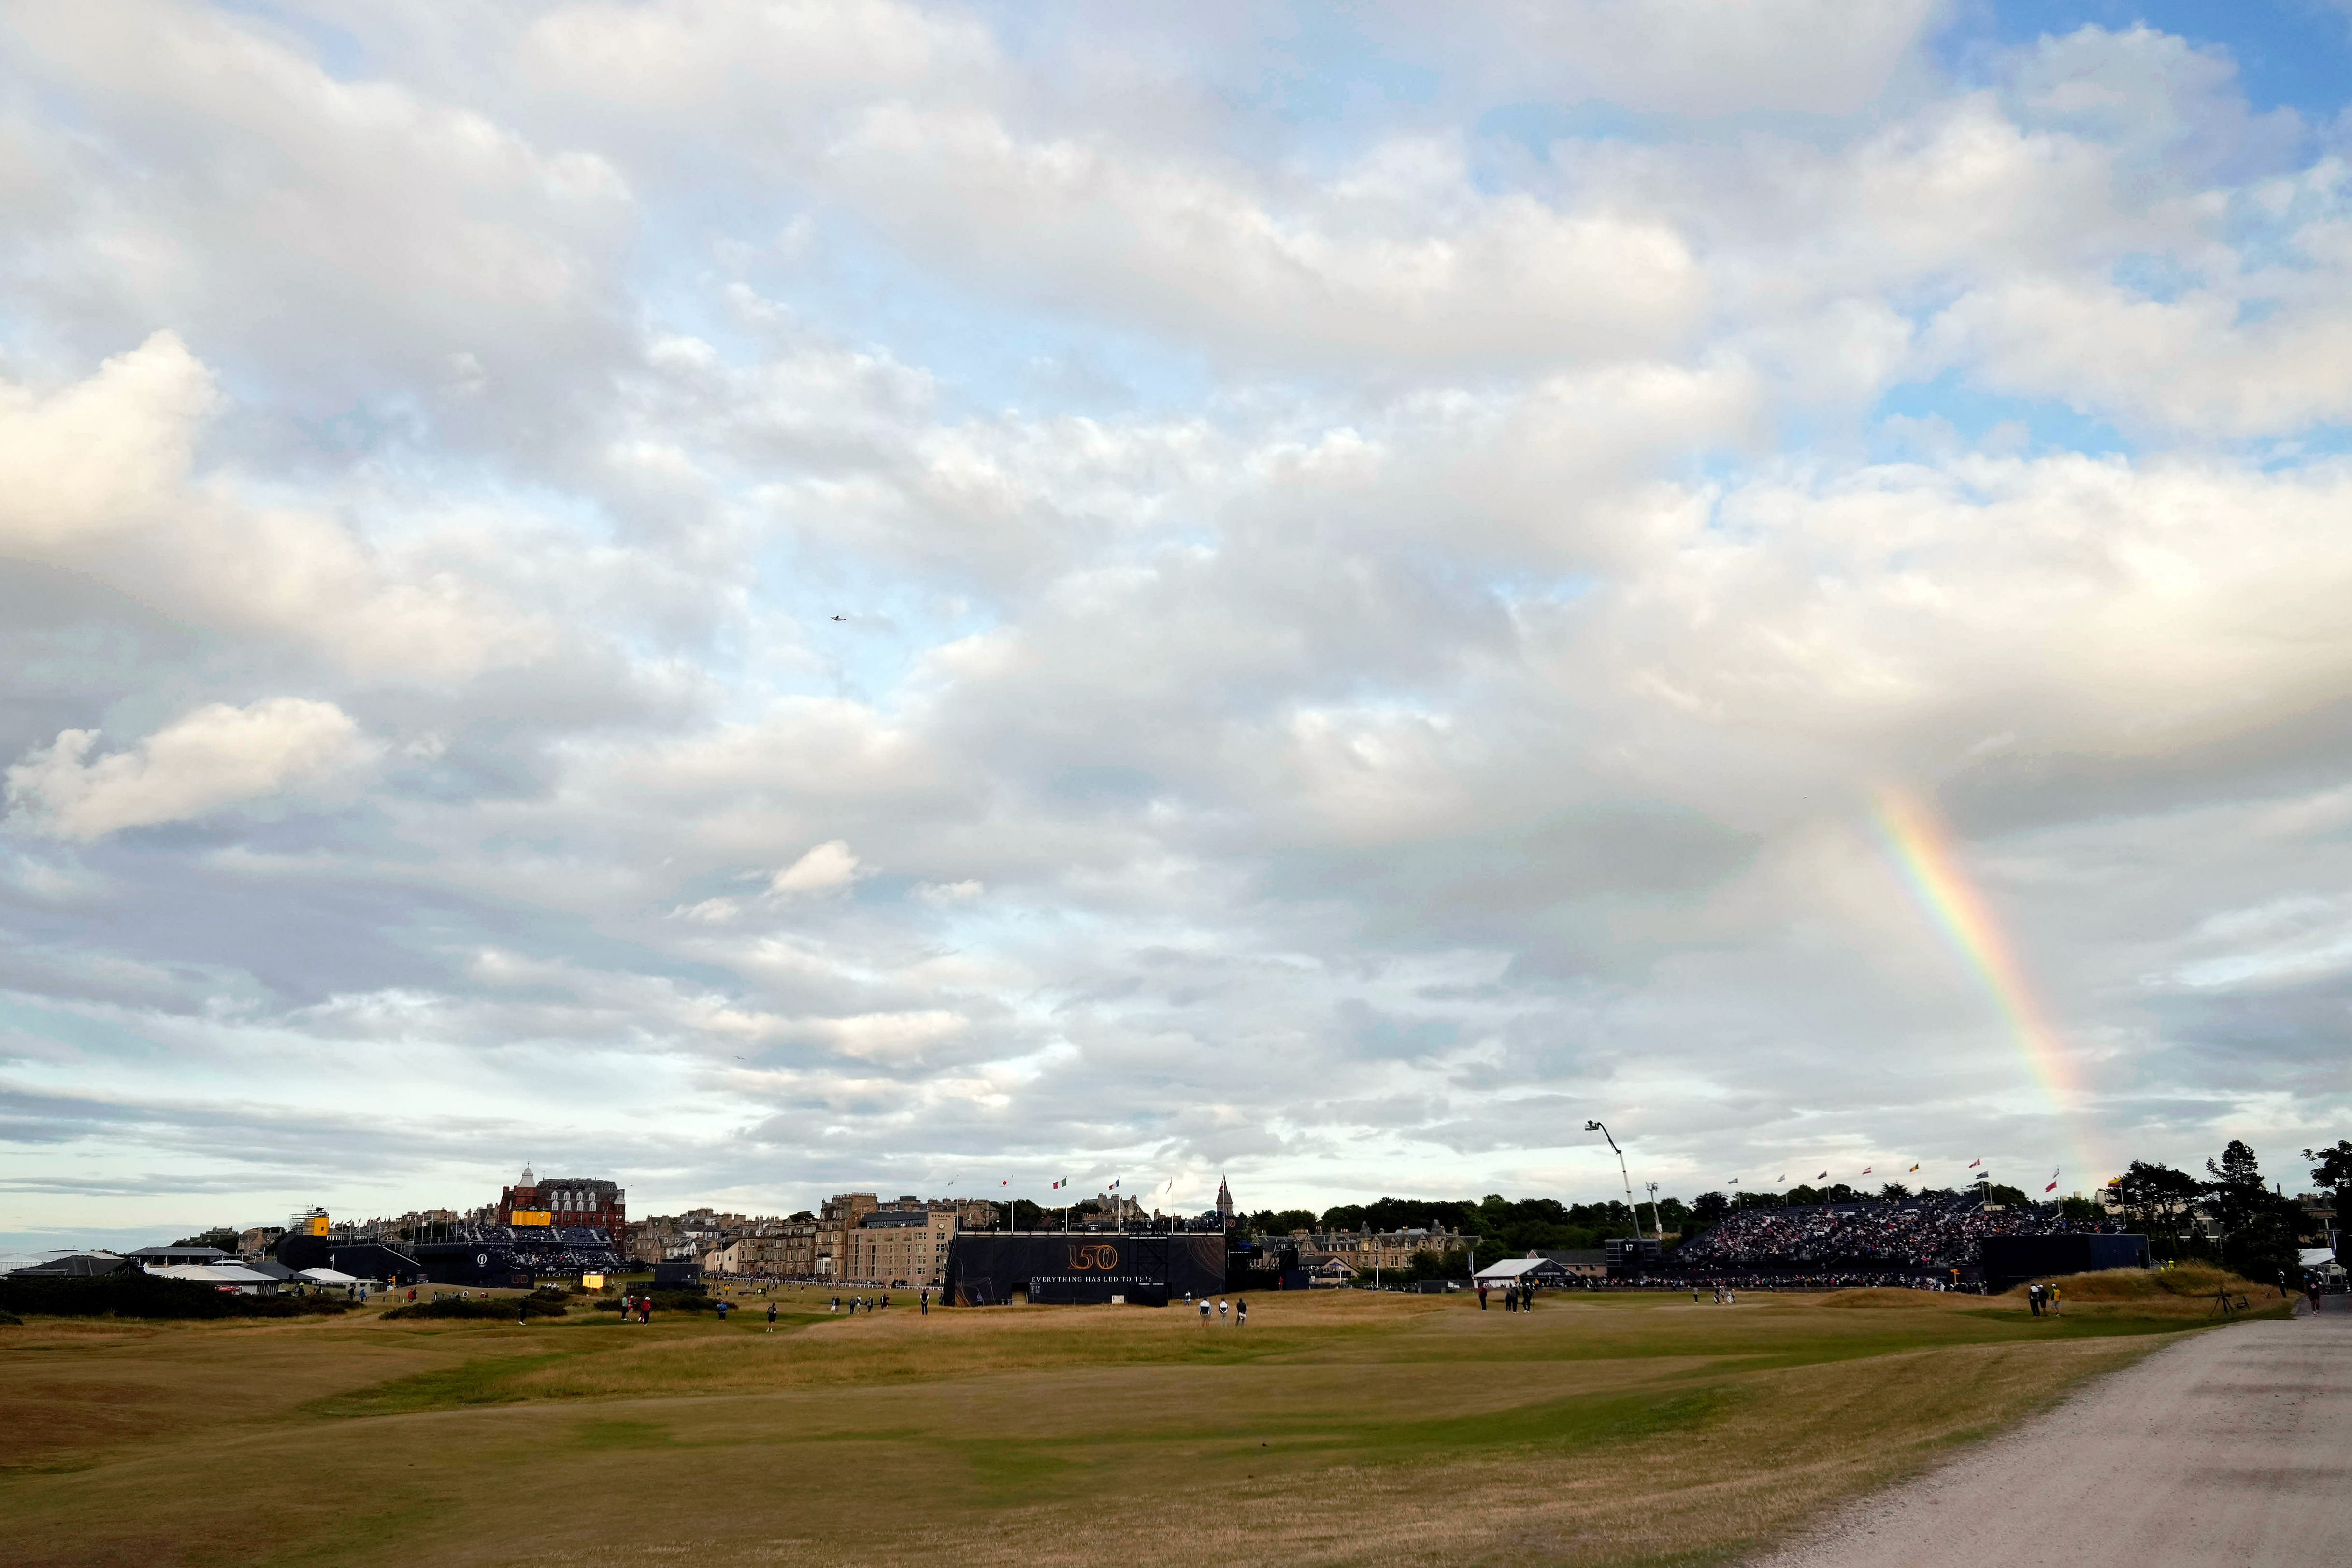
[[[0,1328],[9,1563],[1698,1563],[2204,1326],[2166,1293],[1261,1295]]]

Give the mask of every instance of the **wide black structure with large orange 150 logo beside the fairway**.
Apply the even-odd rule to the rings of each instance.
[[[1037,1305],[1167,1307],[1225,1288],[1221,1232],[978,1229],[948,1244],[938,1295],[955,1307]]]

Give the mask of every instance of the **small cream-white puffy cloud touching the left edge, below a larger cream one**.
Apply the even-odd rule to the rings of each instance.
[[[280,696],[247,708],[207,703],[125,752],[92,759],[94,729],[68,729],[7,771],[7,802],[35,830],[99,839],[183,823],[278,797],[315,797],[350,780],[381,745],[334,703]]]

